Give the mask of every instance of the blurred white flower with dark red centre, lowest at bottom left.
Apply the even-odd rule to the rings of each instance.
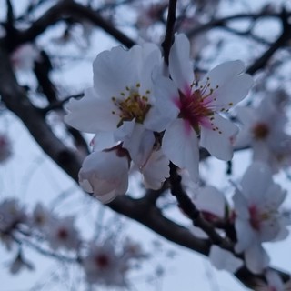
[[[126,286],[124,259],[116,255],[110,242],[106,242],[104,246],[91,243],[88,254],[81,264],[90,284]]]

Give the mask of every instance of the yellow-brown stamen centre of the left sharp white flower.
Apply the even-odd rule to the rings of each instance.
[[[120,121],[117,127],[123,125],[125,121],[132,121],[143,124],[146,119],[146,114],[151,108],[148,104],[148,95],[151,93],[146,90],[145,95],[139,93],[140,84],[137,83],[135,88],[125,87],[125,92],[121,92],[121,97],[111,97],[112,102],[118,108],[117,111],[112,111],[113,115],[119,115]]]

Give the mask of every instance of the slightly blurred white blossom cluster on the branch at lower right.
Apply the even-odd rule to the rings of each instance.
[[[226,196],[213,186],[202,187],[194,198],[206,220],[225,221],[229,226],[235,226],[235,255],[243,254],[245,262],[218,246],[212,246],[210,260],[217,268],[229,272],[236,272],[246,264],[252,273],[267,275],[270,260],[263,244],[283,240],[289,234],[287,226],[291,225],[291,220],[282,206],[286,191],[274,182],[270,166],[254,162],[246,169],[232,198],[233,204],[228,203]],[[192,231],[196,236],[207,237],[201,230],[194,228]]]

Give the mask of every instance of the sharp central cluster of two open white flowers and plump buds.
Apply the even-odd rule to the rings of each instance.
[[[241,61],[217,65],[201,80],[190,59],[186,35],[176,35],[166,66],[154,44],[121,46],[97,55],[94,86],[66,106],[65,122],[95,134],[80,185],[103,203],[124,194],[135,168],[145,186],[158,189],[169,162],[199,179],[199,147],[230,160],[238,129],[226,113],[253,81]]]

